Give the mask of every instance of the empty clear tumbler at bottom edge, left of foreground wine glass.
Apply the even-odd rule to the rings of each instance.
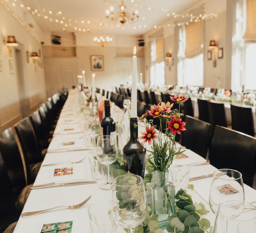
[[[110,214],[111,201],[99,201],[88,208],[92,233],[116,233],[117,225]]]

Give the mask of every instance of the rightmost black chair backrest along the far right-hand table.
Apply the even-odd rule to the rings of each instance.
[[[254,136],[254,122],[252,116],[252,109],[240,107],[236,105],[231,106],[232,129],[242,133]],[[241,122],[241,116],[246,120],[246,123]]]

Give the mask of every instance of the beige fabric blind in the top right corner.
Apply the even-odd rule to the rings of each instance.
[[[246,0],[246,42],[256,43],[256,0]]]

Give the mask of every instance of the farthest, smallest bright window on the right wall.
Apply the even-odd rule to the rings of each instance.
[[[150,85],[161,85],[165,83],[164,80],[164,61],[162,56],[158,55],[158,43],[154,39],[151,42],[151,66],[150,66]],[[161,53],[161,52],[160,52]],[[157,57],[159,57],[157,59]]]

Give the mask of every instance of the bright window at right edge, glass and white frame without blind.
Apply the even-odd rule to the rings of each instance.
[[[255,59],[256,44],[246,44],[243,39],[246,29],[246,0],[236,1],[235,24],[232,37],[232,89],[256,89]]]

